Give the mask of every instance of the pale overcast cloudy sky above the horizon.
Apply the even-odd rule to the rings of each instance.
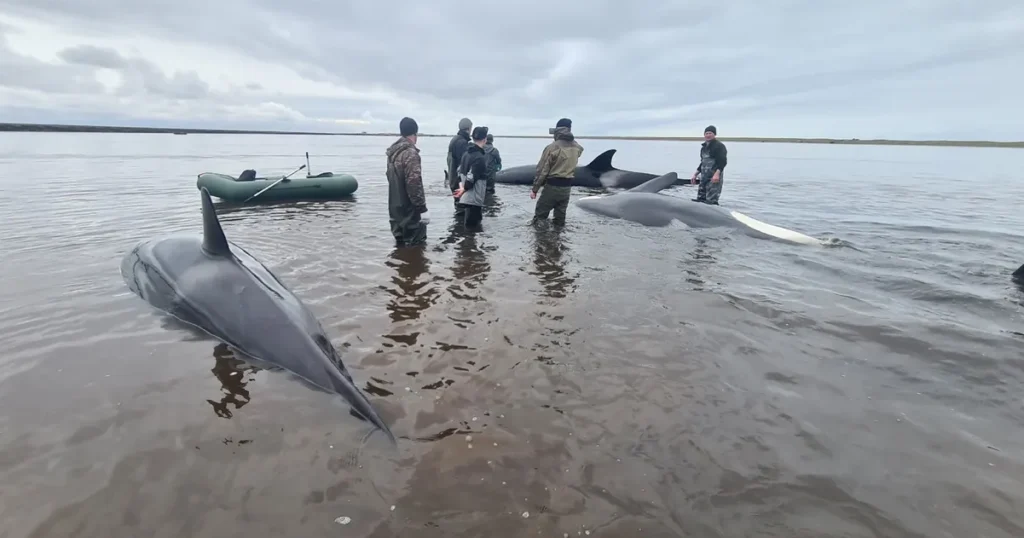
[[[0,122],[1024,140],[1021,0],[0,0]]]

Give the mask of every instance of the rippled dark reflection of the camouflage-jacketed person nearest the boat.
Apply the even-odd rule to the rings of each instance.
[[[426,248],[422,245],[396,248],[385,264],[395,270],[391,277],[394,286],[384,288],[391,294],[387,304],[391,321],[419,319],[437,296],[437,290],[428,287],[430,262]]]

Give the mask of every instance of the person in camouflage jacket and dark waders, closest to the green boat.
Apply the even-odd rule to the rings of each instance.
[[[427,241],[427,212],[423,193],[423,166],[416,147],[420,126],[412,118],[398,123],[401,137],[387,149],[387,204],[391,235],[397,246],[421,245]]]

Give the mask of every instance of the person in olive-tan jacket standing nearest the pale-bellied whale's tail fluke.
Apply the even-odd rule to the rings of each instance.
[[[568,118],[558,120],[550,132],[554,134],[555,139],[541,154],[534,175],[534,190],[529,194],[530,199],[537,199],[537,193],[544,189],[541,199],[534,208],[532,222],[548,218],[548,214],[554,210],[554,222],[562,224],[565,222],[572,178],[575,176],[580,156],[583,155],[583,147],[575,141],[572,135],[572,120]]]

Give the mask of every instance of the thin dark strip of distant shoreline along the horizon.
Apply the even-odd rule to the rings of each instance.
[[[279,134],[314,136],[397,136],[388,132],[312,132],[312,131],[266,131],[238,129],[184,129],[173,127],[118,127],[108,125],[58,125],[43,123],[0,123],[0,132],[122,132],[136,134]],[[450,134],[427,134],[424,137],[447,137]],[[550,135],[502,134],[501,138],[548,138]],[[577,136],[592,140],[648,140],[648,141],[697,141],[700,136]],[[1024,149],[1024,141],[991,140],[888,140],[867,138],[762,138],[751,136],[722,136],[724,141],[761,143],[834,143],[852,146],[943,146],[958,148],[1017,148]]]

